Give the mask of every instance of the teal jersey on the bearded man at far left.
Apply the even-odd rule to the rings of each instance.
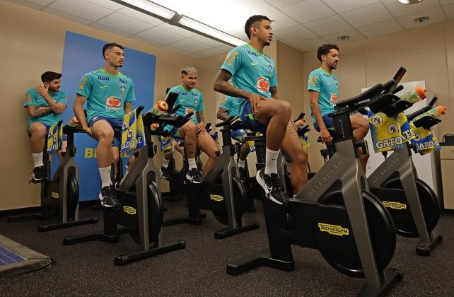
[[[50,98],[54,100],[55,103],[63,103],[67,105],[68,95],[62,91],[58,92],[51,92],[49,91]],[[39,93],[37,93],[35,88],[30,88],[25,95],[25,103],[23,103],[23,107],[27,107],[28,105],[35,105],[36,107],[46,107],[49,106],[45,98],[42,97]],[[45,124],[46,126],[52,126],[56,122],[62,119],[61,115],[57,115],[54,113],[50,113],[49,115],[43,115],[42,117],[28,117],[28,126],[33,124],[34,122],[40,122]]]

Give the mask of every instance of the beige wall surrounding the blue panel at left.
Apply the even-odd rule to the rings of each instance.
[[[197,61],[127,37],[0,1],[0,40],[4,53],[2,69],[8,74],[4,76],[2,82],[4,86],[2,100],[5,107],[1,109],[0,117],[4,124],[8,123],[6,127],[14,127],[14,129],[2,129],[0,132],[1,139],[14,140],[11,145],[3,147],[0,156],[0,165],[5,168],[0,178],[2,191],[0,210],[40,204],[40,187],[27,183],[30,180],[33,161],[26,136],[27,115],[22,105],[25,91],[40,83],[40,75],[44,71],[62,71],[66,30],[106,42],[119,42],[125,47],[156,55],[154,94],[156,99],[165,98],[166,87],[180,83],[182,66],[195,64],[194,62]],[[103,65],[100,55],[100,65],[93,66],[93,69]],[[153,98],[152,95],[150,100],[151,98]],[[161,154],[157,156],[156,161],[160,166]],[[167,182],[161,182],[161,185],[163,191],[168,190]]]

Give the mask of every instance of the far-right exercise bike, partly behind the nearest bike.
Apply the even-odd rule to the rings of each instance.
[[[402,68],[401,72],[404,73],[405,69]],[[436,97],[433,98],[429,105],[408,115],[407,120],[412,121],[430,110],[436,100]],[[388,116],[397,115],[412,106],[411,103],[402,100],[397,103],[400,103],[400,108],[385,109],[383,112]],[[426,116],[414,121],[413,124],[429,129],[439,122],[441,120]],[[407,238],[419,238],[417,255],[429,256],[442,240],[441,235],[432,232],[440,218],[440,205],[431,187],[417,177],[412,161],[412,150],[417,153],[416,146],[407,142],[404,148],[395,150],[388,158],[386,153],[383,153],[385,161],[369,175],[368,185],[371,192],[390,212],[396,233]]]

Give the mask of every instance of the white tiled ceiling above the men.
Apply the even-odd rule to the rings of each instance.
[[[6,0],[94,28],[203,59],[227,47],[110,0]],[[301,52],[326,42],[344,44],[454,19],[454,0],[155,0],[214,28],[247,41],[245,20],[264,14],[274,20],[274,37]],[[429,16],[426,23],[414,18]],[[349,35],[349,40],[337,40]]]

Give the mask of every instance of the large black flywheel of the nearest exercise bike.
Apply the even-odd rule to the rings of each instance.
[[[385,206],[373,194],[363,191],[363,201],[377,267],[379,270],[383,270],[388,266],[395,252],[395,226]],[[315,226],[313,226],[316,229],[315,240],[320,253],[332,267],[342,274],[364,277],[353,232],[350,232],[349,235],[332,235],[327,232],[320,232],[320,226],[318,226],[318,223],[322,221],[351,231],[342,192],[330,193],[325,204],[334,204],[336,207],[334,207],[333,213],[329,215],[327,215],[327,211],[320,211],[318,217],[322,219],[317,220],[318,222],[315,222]]]

